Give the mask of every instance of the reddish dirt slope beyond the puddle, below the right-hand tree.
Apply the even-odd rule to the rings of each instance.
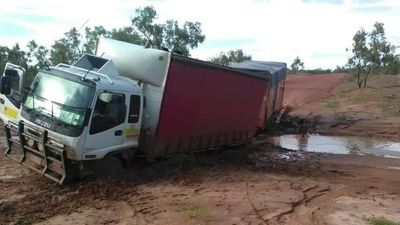
[[[347,79],[346,74],[289,76],[284,104],[319,134],[399,139],[399,77],[376,75],[362,89]]]

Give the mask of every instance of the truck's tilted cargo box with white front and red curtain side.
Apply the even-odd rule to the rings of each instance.
[[[142,153],[157,157],[251,142],[265,76],[175,54],[158,63],[163,76],[154,76],[137,62],[143,56],[127,49],[104,39],[97,54],[111,59],[122,76],[143,80]]]

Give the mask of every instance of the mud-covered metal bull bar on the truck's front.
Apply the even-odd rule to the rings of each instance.
[[[23,121],[18,124],[10,121],[4,128],[5,156],[59,184],[69,179],[70,160],[66,150],[50,144],[47,131],[37,131],[37,135],[27,133]]]

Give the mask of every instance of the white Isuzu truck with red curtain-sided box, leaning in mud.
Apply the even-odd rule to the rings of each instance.
[[[105,38],[96,55],[41,70],[30,87],[25,71],[8,65],[0,84],[6,156],[62,184],[109,155],[252,141],[265,76]]]

